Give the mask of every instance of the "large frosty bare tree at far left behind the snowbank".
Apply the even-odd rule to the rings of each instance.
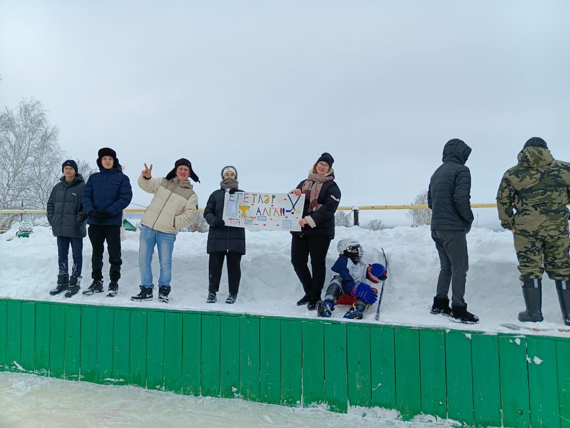
[[[61,172],[58,128],[43,104],[22,100],[0,113],[0,209],[45,209]],[[15,217],[0,220],[9,227]]]

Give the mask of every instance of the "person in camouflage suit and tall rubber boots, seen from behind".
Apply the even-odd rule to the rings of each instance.
[[[519,321],[542,321],[542,282],[555,281],[564,323],[570,325],[570,163],[555,160],[545,141],[529,139],[519,163],[504,173],[497,192],[499,219],[513,232],[526,310]],[[514,210],[513,210],[514,208]],[[543,267],[544,263],[544,267]]]

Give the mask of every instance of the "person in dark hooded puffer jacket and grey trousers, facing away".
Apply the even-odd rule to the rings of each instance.
[[[469,269],[466,235],[473,223],[471,211],[471,172],[465,166],[471,147],[457,138],[443,147],[443,163],[431,176],[427,206],[431,209],[431,239],[439,255],[441,270],[432,314],[449,316],[452,321],[475,324],[479,318],[467,312],[463,300]],[[452,300],[449,307],[449,286]]]

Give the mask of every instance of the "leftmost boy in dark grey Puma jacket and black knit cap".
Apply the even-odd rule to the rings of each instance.
[[[71,297],[79,291],[82,278],[83,238],[87,235],[87,213],[81,202],[85,181],[74,160],[64,161],[62,172],[63,177],[47,200],[47,221],[58,239],[59,267],[58,282],[50,294],[55,296],[67,290],[65,296]],[[74,261],[71,278],[68,270],[70,245]]]

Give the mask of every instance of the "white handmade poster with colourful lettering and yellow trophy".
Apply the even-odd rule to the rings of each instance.
[[[223,221],[253,231],[300,232],[304,203],[305,195],[294,193],[226,192]]]

